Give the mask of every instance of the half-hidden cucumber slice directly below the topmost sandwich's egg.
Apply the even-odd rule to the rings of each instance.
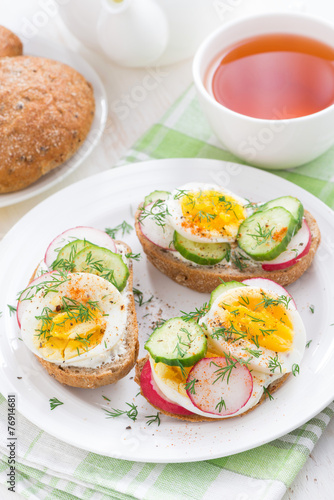
[[[218,264],[230,255],[228,243],[198,243],[188,240],[176,231],[174,231],[173,243],[182,257],[202,266]]]

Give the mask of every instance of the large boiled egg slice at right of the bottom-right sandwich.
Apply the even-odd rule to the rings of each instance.
[[[305,327],[290,297],[255,286],[218,296],[203,324],[217,350],[247,363],[251,370],[294,371],[305,349]]]

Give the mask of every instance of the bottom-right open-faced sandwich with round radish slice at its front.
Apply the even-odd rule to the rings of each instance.
[[[202,309],[154,330],[135,380],[166,415],[230,418],[299,373],[305,342],[296,305],[280,285],[260,278],[223,283]]]

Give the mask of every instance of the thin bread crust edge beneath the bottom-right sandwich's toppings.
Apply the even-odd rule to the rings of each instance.
[[[142,389],[141,389],[141,385],[140,385],[140,375],[141,375],[142,369],[144,368],[144,365],[148,359],[149,359],[149,357],[147,355],[145,358],[139,359],[137,361],[137,364],[136,364],[136,375],[135,375],[134,380],[139,385],[140,392],[141,392],[142,396],[144,396],[144,395],[142,393]],[[284,382],[289,377],[289,375],[290,375],[290,373],[286,373],[278,380],[275,380],[274,382],[272,382],[267,387],[270,394],[273,394],[273,392],[277,391],[277,389],[279,389],[284,384]],[[170,413],[170,412],[164,411],[161,408],[152,405],[152,403],[150,401],[148,401],[148,400],[147,401],[156,410],[160,411],[160,413],[163,413],[164,415],[168,415],[169,417],[178,418],[179,420],[187,420],[188,422],[213,422],[215,420],[225,420],[226,418],[242,417],[243,415],[246,415],[247,413],[249,413],[249,412],[253,411],[255,408],[257,408],[261,403],[263,403],[263,401],[266,399],[266,397],[267,396],[263,393],[260,401],[256,405],[254,405],[252,408],[250,408],[249,410],[245,411],[244,413],[241,413],[240,415],[235,415],[235,416],[231,415],[229,417],[224,417],[224,418],[210,418],[210,417],[204,417],[202,415],[195,415],[195,414],[194,415],[176,415],[175,413]]]

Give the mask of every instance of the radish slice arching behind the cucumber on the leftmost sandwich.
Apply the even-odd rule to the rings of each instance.
[[[58,252],[67,243],[74,240],[87,240],[94,245],[99,247],[107,248],[114,253],[117,253],[115,242],[107,233],[100,231],[100,229],[95,229],[94,227],[87,226],[77,226],[71,229],[67,229],[63,233],[56,236],[56,238],[48,246],[44,262],[51,268],[52,263],[56,260]]]

